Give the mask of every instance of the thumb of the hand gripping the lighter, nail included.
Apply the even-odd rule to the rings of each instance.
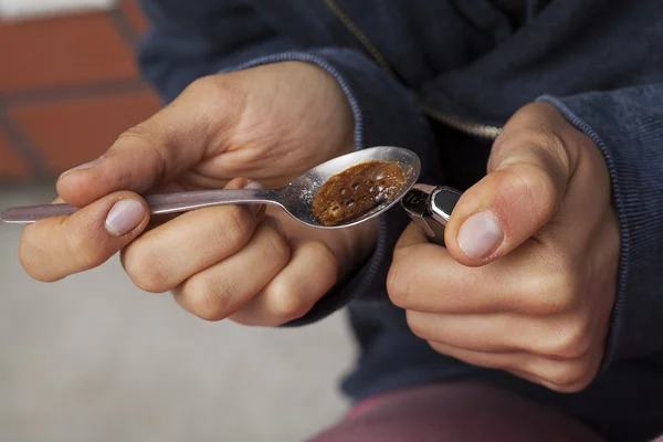
[[[476,266],[504,256],[551,219],[578,161],[573,146],[558,136],[565,127],[545,103],[509,119],[493,146],[488,175],[463,193],[446,227],[455,260]]]

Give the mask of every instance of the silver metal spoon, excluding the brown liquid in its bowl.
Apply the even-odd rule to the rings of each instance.
[[[313,214],[313,199],[329,177],[350,166],[366,161],[393,161],[403,171],[406,182],[391,200],[337,225],[324,225]],[[396,204],[417,182],[421,170],[419,157],[411,150],[378,146],[357,150],[314,167],[278,189],[200,190],[145,197],[151,214],[178,213],[220,204],[275,204],[299,222],[314,228],[339,229],[358,224],[379,215]],[[6,210],[0,219],[12,224],[29,224],[44,218],[62,217],[78,210],[70,204],[27,206]]]

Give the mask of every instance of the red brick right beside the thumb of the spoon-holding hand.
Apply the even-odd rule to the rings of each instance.
[[[151,92],[108,95],[10,109],[54,173],[94,159],[126,129],[158,110]]]

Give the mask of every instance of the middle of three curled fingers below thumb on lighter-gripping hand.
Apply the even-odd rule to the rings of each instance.
[[[439,315],[408,311],[412,333],[456,348],[482,352],[525,351],[549,359],[578,359],[591,349],[598,327],[576,315]],[[599,337],[602,341],[601,337]]]

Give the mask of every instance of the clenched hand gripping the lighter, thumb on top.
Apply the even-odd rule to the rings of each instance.
[[[583,389],[603,355],[620,236],[606,162],[545,103],[516,113],[488,173],[445,231],[412,227],[394,251],[392,302],[433,349],[556,391]]]

